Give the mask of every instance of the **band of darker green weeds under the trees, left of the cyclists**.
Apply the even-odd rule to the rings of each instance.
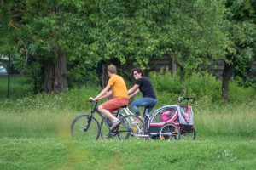
[[[18,99],[1,99],[3,108],[9,113],[27,113],[30,111],[60,111],[70,109],[84,111],[90,107],[88,99],[95,96],[101,90],[100,87],[84,86],[73,88],[67,93],[61,94],[37,94]]]

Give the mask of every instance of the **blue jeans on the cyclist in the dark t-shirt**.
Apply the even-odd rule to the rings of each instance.
[[[137,100],[134,100],[131,103],[131,109],[132,111],[135,112],[135,114],[137,116],[140,116],[140,111],[138,110],[138,107],[145,107],[144,112],[143,112],[143,116],[145,116],[145,111],[146,109],[148,110],[148,112],[152,111],[152,109],[154,108],[154,105],[156,105],[157,103],[157,99],[153,99],[153,98],[140,98]]]

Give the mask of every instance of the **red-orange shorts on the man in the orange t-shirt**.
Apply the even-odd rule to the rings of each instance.
[[[114,98],[102,104],[103,109],[110,111],[117,111],[121,106],[128,105],[129,99],[127,98]]]

